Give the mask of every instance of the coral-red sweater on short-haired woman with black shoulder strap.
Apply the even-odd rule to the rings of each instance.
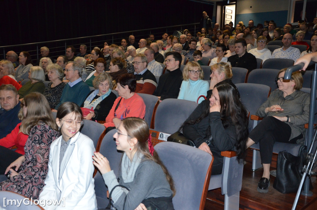
[[[114,109],[116,108],[121,97],[118,97],[106,118],[105,127],[114,127],[113,118],[117,117],[120,120],[125,119],[126,117],[139,117],[141,119],[144,118],[145,115],[145,103],[141,96],[134,93],[131,98],[124,99],[122,98],[119,107],[114,113]]]

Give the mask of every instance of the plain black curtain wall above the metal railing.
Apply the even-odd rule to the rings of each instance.
[[[0,46],[199,22],[213,3],[168,1],[1,1]]]

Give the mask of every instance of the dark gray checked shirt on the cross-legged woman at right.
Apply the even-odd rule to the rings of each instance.
[[[305,93],[301,90],[295,90],[294,93],[283,96],[281,90],[273,91],[268,99],[258,108],[256,115],[260,117],[265,116],[279,116],[285,117],[289,116],[290,122],[287,123],[291,129],[292,133],[289,139],[293,139],[303,133],[305,130],[304,125],[308,123],[309,118],[309,103],[310,94]],[[278,112],[268,112],[265,114],[265,109],[272,105],[280,105],[283,111]],[[303,134],[304,135],[304,134]]]

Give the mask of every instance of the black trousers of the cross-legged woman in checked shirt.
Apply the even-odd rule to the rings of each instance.
[[[259,142],[260,156],[262,164],[270,164],[272,161],[273,145],[275,141],[284,143],[296,143],[302,138],[302,134],[289,140],[291,127],[275,117],[265,117],[249,134],[249,138],[254,142]]]

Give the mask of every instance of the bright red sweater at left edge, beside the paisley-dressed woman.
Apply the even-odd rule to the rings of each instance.
[[[23,134],[22,132],[19,133],[20,125],[21,122],[16,125],[16,127],[11,131],[10,134],[0,139],[0,146],[3,146],[5,148],[16,146],[17,149],[15,152],[24,155],[24,146],[29,135]]]

